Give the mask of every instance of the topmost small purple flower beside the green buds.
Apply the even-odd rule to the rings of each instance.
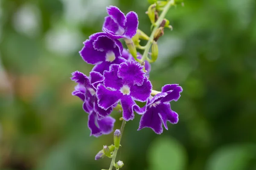
[[[107,7],[108,15],[105,17],[102,30],[113,39],[128,38],[131,39],[138,29],[138,16],[134,11],[128,14],[122,13],[116,6]]]

